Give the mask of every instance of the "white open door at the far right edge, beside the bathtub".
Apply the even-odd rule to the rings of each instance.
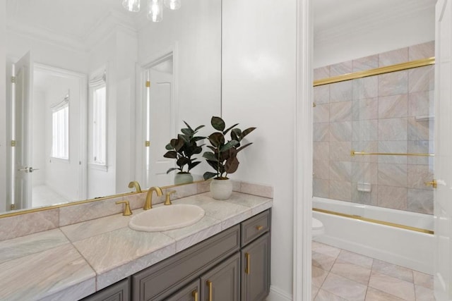
[[[452,0],[436,3],[434,191],[436,300],[452,300]]]

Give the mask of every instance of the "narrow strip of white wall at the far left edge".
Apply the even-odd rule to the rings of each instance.
[[[0,58],[6,57],[6,1],[0,0]],[[0,59],[0,212],[6,211],[6,61]]]

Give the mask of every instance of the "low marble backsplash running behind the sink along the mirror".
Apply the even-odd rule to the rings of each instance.
[[[165,195],[168,191],[176,191],[171,197],[174,200],[208,192],[210,189],[209,185],[210,182],[206,181],[162,189],[163,195],[161,197],[157,197],[155,193],[153,194],[153,204],[165,202]],[[273,188],[268,185],[233,181],[232,189],[249,195],[273,198]],[[66,207],[49,208],[48,210],[18,214],[16,216],[0,216],[0,241],[119,214],[123,211],[124,205],[116,204],[116,202],[122,200],[128,200],[132,210],[138,209],[143,207],[146,194],[147,192],[142,192],[100,199],[95,202],[73,204]]]

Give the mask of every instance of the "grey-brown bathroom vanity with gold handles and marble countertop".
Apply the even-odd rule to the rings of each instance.
[[[132,216],[143,211],[143,200],[134,202]],[[226,201],[208,192],[182,197],[173,204],[194,204],[205,216],[161,232],[135,231],[121,214],[64,225],[59,208],[59,227],[0,242],[0,300],[264,300],[272,202],[242,192]],[[109,203],[67,210],[86,216]]]

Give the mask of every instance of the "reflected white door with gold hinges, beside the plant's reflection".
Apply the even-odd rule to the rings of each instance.
[[[146,70],[146,147],[145,178],[147,187],[173,183],[174,174],[167,170],[174,166],[173,159],[163,157],[165,146],[175,137],[176,111],[174,105],[174,72],[172,53],[151,63]]]

